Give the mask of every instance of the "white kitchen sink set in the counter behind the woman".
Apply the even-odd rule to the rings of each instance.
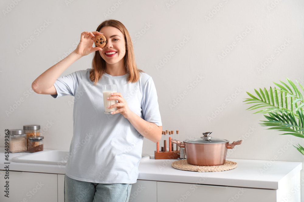
[[[32,163],[32,164],[50,164],[50,165],[66,165],[69,151],[64,150],[44,150],[35,153],[25,154],[13,157],[13,162]],[[150,159],[149,154],[142,154],[140,162]]]

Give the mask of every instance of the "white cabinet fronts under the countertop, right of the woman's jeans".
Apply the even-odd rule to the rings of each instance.
[[[137,180],[129,202],[277,202],[277,190]],[[297,201],[297,200],[288,200]]]

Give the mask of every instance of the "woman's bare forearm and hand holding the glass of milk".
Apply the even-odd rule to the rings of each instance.
[[[115,108],[117,107],[117,110],[114,112],[111,112],[111,114],[117,114],[120,113],[124,116],[124,118],[128,119],[130,123],[133,125],[133,127],[143,136],[147,139],[158,142],[161,139],[161,132],[162,127],[157,126],[154,123],[150,123],[144,119],[142,119],[140,116],[135,114],[133,111],[131,111],[126,103],[126,100],[123,99],[123,96],[121,93],[112,93],[112,97],[108,98],[108,100],[117,100],[118,102],[116,104],[113,104],[109,106],[108,108]]]

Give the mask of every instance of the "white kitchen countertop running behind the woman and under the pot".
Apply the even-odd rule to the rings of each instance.
[[[12,157],[29,153],[9,153],[9,161],[5,161],[4,147],[0,147],[0,170],[4,170],[5,163],[9,163],[10,171],[27,171],[40,173],[64,174],[65,166],[31,164],[12,162]],[[237,168],[221,172],[182,171],[171,167],[176,160],[151,159],[139,165],[139,180],[154,180],[167,182],[210,184],[235,187],[252,187],[264,189],[278,189],[280,180],[285,176],[293,177],[302,170],[302,162],[290,161],[262,161],[227,159],[236,162]]]

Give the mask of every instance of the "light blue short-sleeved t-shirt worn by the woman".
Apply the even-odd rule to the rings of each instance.
[[[116,84],[128,107],[144,120],[161,126],[157,94],[152,78],[140,73],[139,81],[128,83],[127,75],[103,74],[98,83],[90,80],[90,69],[58,78],[57,95],[75,96],[74,134],[65,174],[93,183],[136,183],[143,136],[122,114],[105,114],[102,85]]]

